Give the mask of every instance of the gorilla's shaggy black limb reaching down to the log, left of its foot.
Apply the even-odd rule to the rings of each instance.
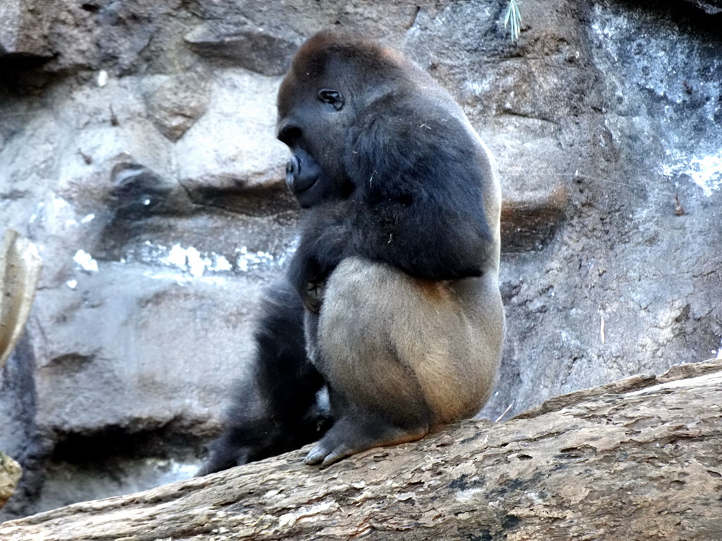
[[[316,400],[323,377],[306,356],[303,306],[285,281],[266,291],[254,338],[253,376],[235,391],[199,475],[298,449],[330,426]]]

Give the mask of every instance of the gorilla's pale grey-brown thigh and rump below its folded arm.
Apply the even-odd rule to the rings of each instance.
[[[318,369],[352,403],[378,405],[389,418],[436,424],[474,415],[495,382],[503,309],[494,281],[464,282],[344,260],[326,286]]]

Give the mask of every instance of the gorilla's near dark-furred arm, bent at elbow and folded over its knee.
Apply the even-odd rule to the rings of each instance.
[[[489,169],[461,123],[404,111],[372,117],[350,137],[355,192],[310,209],[292,260],[304,299],[351,255],[417,278],[481,276],[494,242],[482,204]]]

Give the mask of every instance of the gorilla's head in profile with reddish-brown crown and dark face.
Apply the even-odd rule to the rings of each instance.
[[[300,206],[345,198],[354,179],[347,162],[374,102],[399,92],[403,64],[391,50],[336,32],[308,40],[278,94],[277,137],[292,152],[286,182]]]

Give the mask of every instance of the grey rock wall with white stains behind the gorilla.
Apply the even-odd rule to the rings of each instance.
[[[653,5],[651,5],[653,4]],[[721,356],[722,2],[3,0],[0,229],[45,261],[0,375],[2,519],[192,475],[297,207],[275,92],[316,30],[395,45],[502,177],[495,419]]]

